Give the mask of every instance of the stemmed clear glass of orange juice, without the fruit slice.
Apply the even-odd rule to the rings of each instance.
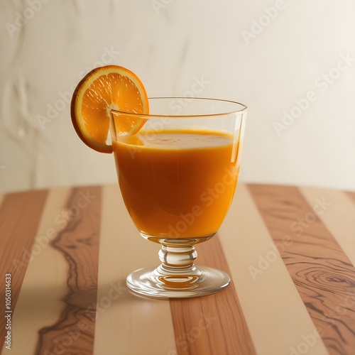
[[[161,245],[157,268],[133,271],[131,290],[152,297],[209,295],[226,273],[195,266],[195,244],[211,239],[234,196],[246,106],[220,99],[158,97],[149,114],[111,110],[111,138],[126,208],[139,233]],[[135,134],[120,133],[129,119]]]

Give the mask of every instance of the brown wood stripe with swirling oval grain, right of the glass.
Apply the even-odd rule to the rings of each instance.
[[[249,190],[275,243],[285,232],[290,236],[280,255],[329,354],[353,354],[355,268],[318,217],[324,204],[317,200],[310,206],[296,187],[249,185]]]

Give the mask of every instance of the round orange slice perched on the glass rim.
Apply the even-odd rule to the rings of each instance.
[[[70,115],[82,141],[95,151],[112,153],[109,135],[110,109],[148,114],[148,97],[141,80],[124,67],[107,65],[89,72],[72,94]],[[145,120],[127,117],[120,129],[134,134]]]

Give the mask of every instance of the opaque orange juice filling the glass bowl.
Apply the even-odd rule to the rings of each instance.
[[[121,194],[143,236],[205,239],[217,232],[238,178],[233,136],[141,131],[120,137],[113,147]]]

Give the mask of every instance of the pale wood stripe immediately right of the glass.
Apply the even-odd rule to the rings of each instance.
[[[315,329],[246,185],[239,184],[220,229],[231,276],[258,355],[292,354]],[[315,339],[307,355],[323,355]],[[297,354],[293,354],[297,355]]]

